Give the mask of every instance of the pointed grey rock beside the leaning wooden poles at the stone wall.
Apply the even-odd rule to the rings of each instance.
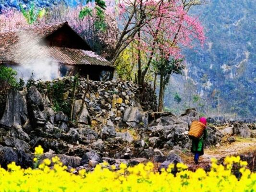
[[[84,103],[83,108],[81,109],[82,106],[82,102],[83,100],[75,100],[74,101],[74,113],[73,113],[73,119],[76,120],[76,116],[77,116],[77,122],[78,123],[82,123],[85,125],[88,125],[88,117],[89,117],[89,113],[88,110],[86,108],[86,105]],[[81,110],[81,111],[80,111]],[[79,113],[79,114],[78,114]]]

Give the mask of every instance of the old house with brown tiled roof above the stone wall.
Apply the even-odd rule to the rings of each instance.
[[[0,32],[0,65],[42,74],[57,70],[52,78],[78,72],[95,81],[111,79],[114,71],[67,22]]]

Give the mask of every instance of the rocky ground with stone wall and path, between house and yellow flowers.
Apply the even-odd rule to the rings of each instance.
[[[46,152],[42,158],[57,155],[69,168],[93,170],[103,161],[118,167],[121,162],[136,165],[149,160],[159,168],[177,162],[195,168],[188,138],[190,123],[199,118],[195,109],[187,109],[181,116],[155,113],[152,110],[154,97],[139,95],[140,87],[128,82],[81,80],[80,88],[73,94],[70,80],[64,81],[67,90],[63,97],[74,98],[73,120],[53,110],[50,96],[42,84],[21,92],[9,92],[0,120],[1,167],[6,168],[12,161],[24,168],[32,167],[34,148],[41,145]],[[88,84],[90,90],[86,91]],[[255,150],[255,124],[230,122],[220,125],[217,128],[213,124],[208,126],[205,141],[208,149],[201,158],[201,166],[206,169],[211,156],[221,159],[242,146],[244,151],[247,146]],[[240,137],[245,138],[248,145],[239,141]],[[252,138],[250,142],[249,138]],[[224,144],[230,151],[225,148],[223,152]]]

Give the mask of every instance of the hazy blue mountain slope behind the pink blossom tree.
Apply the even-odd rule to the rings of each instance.
[[[184,84],[189,78],[194,82],[193,95],[199,95],[205,104],[202,112],[256,117],[255,10],[253,0],[211,0],[192,10],[201,13],[207,41],[204,48],[184,50],[188,70]],[[175,105],[175,92],[183,96],[183,106],[189,103],[185,90],[172,88],[176,79],[172,77],[166,94],[170,108]]]

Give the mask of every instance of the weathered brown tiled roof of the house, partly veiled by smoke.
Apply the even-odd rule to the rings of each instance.
[[[30,63],[35,60],[53,60],[68,65],[110,66],[108,60],[92,51],[73,48],[40,46],[38,42],[65,23],[47,24],[16,31],[0,33],[0,63]]]

